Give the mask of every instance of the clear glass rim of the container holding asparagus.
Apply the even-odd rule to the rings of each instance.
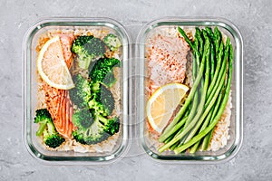
[[[236,65],[238,65],[238,67],[236,68],[236,72],[237,73],[237,80],[235,83],[235,89],[236,89],[236,94],[238,97],[238,100],[236,102],[236,108],[237,108],[237,115],[235,115],[235,118],[238,119],[236,120],[236,123],[238,124],[238,126],[236,126],[236,131],[238,131],[238,136],[236,136],[235,139],[235,143],[237,144],[236,146],[231,146],[229,149],[232,149],[232,152],[228,155],[228,156],[223,156],[219,155],[219,157],[217,157],[217,159],[213,159],[212,157],[203,157],[203,159],[194,159],[192,157],[188,157],[185,158],[183,157],[183,159],[177,159],[175,157],[163,157],[163,156],[159,156],[155,153],[153,153],[149,148],[147,148],[147,146],[145,145],[145,141],[144,138],[141,138],[143,136],[143,130],[140,126],[140,128],[138,129],[140,138],[138,138],[139,141],[139,145],[141,145],[141,148],[144,152],[147,153],[147,155],[149,155],[153,160],[158,161],[160,163],[163,164],[218,164],[218,163],[225,163],[228,160],[232,159],[233,157],[235,157],[240,148],[242,147],[242,142],[243,142],[243,38],[241,33],[238,30],[238,27],[233,24],[232,22],[230,22],[228,19],[226,18],[222,18],[222,17],[210,17],[210,16],[195,16],[195,17],[187,17],[187,16],[165,16],[165,17],[160,17],[157,19],[152,20],[151,22],[144,24],[143,27],[141,28],[141,32],[138,34],[137,39],[136,39],[136,54],[138,58],[141,58],[141,44],[143,44],[143,36],[144,34],[151,28],[151,27],[158,27],[160,26],[160,24],[165,24],[165,23],[170,23],[172,25],[191,25],[191,26],[198,26],[198,24],[201,23],[201,25],[209,25],[209,26],[219,26],[219,27],[223,27],[226,28],[228,30],[229,33],[231,33],[234,36],[235,42],[238,43],[238,56],[236,57]],[[159,25],[158,25],[159,24]],[[141,61],[139,61],[141,62]],[[141,71],[140,69],[143,68],[143,63],[140,64],[139,68],[137,71]],[[140,72],[138,72],[140,73]],[[140,81],[140,85],[142,85],[143,81]],[[232,82],[233,83],[233,82]],[[138,101],[138,100],[136,100]],[[137,105],[139,106],[139,102],[137,102]],[[144,105],[140,105],[140,109],[138,110],[137,114],[141,115],[141,108]],[[138,119],[142,119],[142,118],[138,118]],[[238,128],[237,128],[238,127]],[[235,144],[234,143],[234,144]],[[228,150],[229,150],[228,149]],[[227,151],[228,151],[227,150]]]

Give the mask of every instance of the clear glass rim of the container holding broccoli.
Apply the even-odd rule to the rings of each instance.
[[[22,57],[23,57],[23,66],[22,66],[22,93],[23,93],[23,119],[24,119],[24,124],[23,124],[23,142],[24,142],[24,147],[26,148],[26,150],[29,152],[29,154],[34,157],[35,159],[37,159],[38,161],[40,161],[42,164],[44,165],[106,165],[106,164],[111,164],[115,161],[119,161],[121,160],[122,157],[124,157],[127,152],[129,151],[129,149],[131,148],[131,119],[129,117],[129,113],[131,112],[131,107],[129,107],[129,95],[125,95],[125,93],[123,93],[123,98],[125,98],[127,100],[127,102],[125,103],[125,105],[123,105],[122,110],[126,110],[123,114],[124,119],[126,119],[127,121],[125,123],[123,123],[123,127],[127,127],[127,140],[125,140],[125,145],[124,148],[121,148],[121,153],[120,155],[116,156],[116,157],[112,157],[110,156],[106,156],[108,157],[107,159],[104,160],[91,160],[91,159],[86,159],[84,160],[83,158],[76,160],[76,159],[63,159],[63,157],[61,157],[60,159],[56,159],[53,160],[52,157],[41,157],[41,154],[35,154],[33,149],[31,148],[32,146],[28,143],[28,138],[27,138],[27,125],[26,122],[27,120],[27,80],[29,79],[29,77],[27,77],[27,70],[28,70],[28,59],[27,59],[27,42],[29,41],[29,38],[31,37],[31,34],[34,32],[35,29],[40,29],[44,26],[46,26],[46,24],[50,24],[50,23],[54,23],[54,24],[59,24],[59,25],[71,25],[73,23],[78,23],[78,24],[87,24],[87,23],[101,23],[103,25],[108,25],[108,27],[118,27],[118,29],[121,31],[121,33],[124,35],[126,42],[124,43],[124,45],[127,46],[127,52],[125,52],[125,56],[124,56],[124,62],[126,62],[126,71],[124,71],[123,68],[123,80],[122,80],[122,84],[123,86],[126,86],[127,88],[129,88],[129,85],[131,85],[131,80],[128,80],[128,76],[130,73],[130,60],[131,60],[131,36],[129,35],[129,33],[126,31],[125,27],[120,24],[118,21],[112,19],[112,18],[108,18],[108,17],[64,17],[64,16],[55,16],[55,17],[44,17],[44,18],[40,18],[37,21],[35,21],[33,24],[30,25],[30,27],[28,28],[28,30],[24,33],[24,39],[23,39],[23,49],[22,49]],[[85,25],[88,26],[88,25]],[[94,26],[94,25],[91,25]],[[129,90],[126,90],[127,92],[129,92]],[[121,147],[121,146],[120,146]],[[117,149],[117,151],[119,151],[120,148]],[[115,152],[113,154],[116,154]]]

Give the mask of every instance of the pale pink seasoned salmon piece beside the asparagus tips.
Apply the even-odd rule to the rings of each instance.
[[[185,79],[189,44],[181,37],[155,35],[147,52],[150,95],[170,82]]]

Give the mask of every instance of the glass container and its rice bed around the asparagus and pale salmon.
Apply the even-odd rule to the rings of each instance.
[[[228,36],[230,39],[230,43],[233,46],[233,71],[230,90],[231,92],[230,105],[232,104],[232,107],[229,106],[228,103],[227,106],[231,107],[230,109],[231,115],[230,118],[228,119],[229,121],[229,126],[227,129],[228,136],[226,137],[227,139],[224,140],[225,145],[223,146],[223,148],[218,148],[216,150],[211,149],[206,151],[197,150],[195,153],[189,153],[188,149],[187,151],[183,151],[179,154],[175,154],[174,151],[170,151],[170,149],[167,149],[166,151],[160,153],[158,151],[158,148],[160,148],[161,145],[163,144],[159,143],[158,136],[156,136],[156,133],[155,136],[153,135],[150,125],[151,123],[148,123],[148,116],[146,110],[148,100],[150,96],[153,95],[153,94],[149,95],[150,94],[149,92],[151,91],[150,86],[151,84],[149,84],[151,82],[151,73],[155,70],[151,66],[153,67],[157,66],[154,64],[153,65],[149,64],[149,61],[151,61],[152,58],[151,56],[154,57],[157,56],[157,59],[160,59],[160,56],[163,56],[164,53],[163,51],[161,51],[161,55],[160,53],[155,55],[151,54],[151,51],[153,51],[154,47],[156,46],[154,45],[155,44],[154,37],[159,39],[157,42],[160,42],[160,39],[162,39],[161,37],[179,36],[177,35],[180,34],[178,31],[178,27],[181,27],[189,36],[193,36],[195,34],[196,27],[199,29],[210,27],[212,30],[214,30],[216,26],[219,28],[219,31],[223,34],[223,37],[225,37],[225,41],[226,37]],[[170,40],[172,39],[167,39],[166,41]],[[172,43],[170,46],[178,46],[177,44],[178,43]],[[165,47],[168,45],[165,45]],[[160,50],[158,52],[160,52]],[[144,25],[143,28],[141,29],[141,33],[139,33],[137,38],[136,54],[137,61],[135,62],[138,63],[135,66],[136,73],[139,74],[140,77],[138,82],[135,83],[135,85],[138,85],[137,88],[139,88],[136,90],[135,93],[136,95],[138,95],[137,96],[138,99],[136,100],[137,101],[136,108],[138,108],[137,121],[139,121],[140,125],[140,127],[137,128],[139,130],[138,144],[140,145],[141,148],[143,148],[144,152],[146,152],[151,157],[155,158],[155,160],[160,160],[162,162],[168,163],[210,163],[210,162],[217,163],[220,161],[226,161],[234,157],[238,153],[238,150],[241,147],[243,139],[243,91],[242,91],[243,42],[237,27],[234,24],[228,22],[227,20],[218,18],[187,19],[180,17],[167,17],[164,19],[154,20]],[[189,60],[192,61],[192,54],[191,53],[189,54],[190,56],[187,55],[188,60],[187,63],[189,63]],[[161,58],[161,60],[162,59],[166,58],[163,57]],[[158,70],[160,71],[159,73],[164,72],[161,71],[160,68],[158,68]],[[163,107],[165,105],[161,106]],[[168,107],[165,106],[165,109],[167,110]]]

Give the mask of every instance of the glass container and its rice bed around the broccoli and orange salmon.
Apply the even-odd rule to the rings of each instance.
[[[43,137],[36,136],[39,125],[34,123],[35,110],[46,108],[46,106],[44,107],[44,92],[41,93],[41,84],[43,84],[41,80],[44,78],[41,79],[37,71],[37,59],[39,58],[38,55],[41,52],[41,47],[45,46],[45,42],[53,39],[55,36],[59,37],[55,39],[56,41],[63,43],[62,38],[67,34],[72,34],[73,39],[79,35],[93,35],[93,37],[103,40],[103,37],[109,33],[114,34],[121,43],[118,50],[113,51],[113,55],[109,50],[105,52],[110,54],[107,56],[117,58],[121,62],[119,68],[113,68],[114,70],[117,69],[113,73],[115,81],[112,87],[114,88],[111,87],[108,89],[114,91],[112,96],[115,102],[112,110],[114,113],[112,114],[115,114],[114,116],[119,118],[119,130],[111,137],[106,138],[106,140],[92,144],[91,146],[80,144],[72,140],[73,137],[70,136],[70,138],[65,138],[64,146],[61,145],[57,148],[46,147],[43,143]],[[128,117],[130,109],[128,100],[130,50],[130,38],[124,27],[116,21],[107,18],[44,19],[35,23],[28,30],[24,37],[24,144],[32,156],[40,158],[40,160],[62,161],[62,163],[72,161],[73,163],[102,164],[117,160],[126,153],[131,144],[130,119]],[[65,53],[64,50],[63,53]],[[44,55],[44,57],[46,58],[47,55]],[[50,52],[48,56],[50,56]],[[75,58],[73,57],[74,61]],[[71,77],[75,74],[71,71],[73,66],[70,69]],[[44,91],[50,91],[50,88]],[[65,98],[67,99],[67,96]],[[71,112],[71,107],[74,113],[74,106],[71,103],[70,110],[66,109],[65,111]],[[71,121],[71,118],[69,120]]]

